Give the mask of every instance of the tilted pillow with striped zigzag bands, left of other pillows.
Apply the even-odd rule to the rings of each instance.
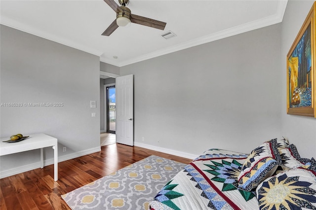
[[[238,188],[251,191],[261,181],[274,174],[281,157],[277,149],[277,140],[264,142],[248,155],[238,175]]]

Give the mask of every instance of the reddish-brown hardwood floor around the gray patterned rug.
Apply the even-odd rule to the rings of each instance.
[[[137,146],[102,146],[100,152],[58,163],[56,182],[53,165],[0,179],[0,209],[70,210],[61,195],[150,155],[186,164],[192,161]]]

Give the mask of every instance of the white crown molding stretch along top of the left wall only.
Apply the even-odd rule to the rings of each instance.
[[[1,15],[0,24],[2,24],[4,26],[8,26],[8,27],[13,28],[13,29],[17,29],[17,30],[22,31],[22,32],[26,32],[28,34],[40,36],[42,38],[45,38],[45,39],[48,39],[48,40],[72,47],[72,48],[75,48],[75,49],[78,49],[78,50],[81,50],[81,51],[84,51],[84,52],[87,52],[87,53],[90,53],[90,54],[93,54],[96,56],[100,56],[101,54],[103,54],[103,52],[101,52],[101,51],[95,50],[91,47],[84,46],[78,42],[72,41],[71,39],[64,39],[64,38],[61,38],[61,37],[56,36],[56,35],[42,32],[42,31],[38,30],[37,28],[34,28],[34,27],[27,25],[27,24],[22,24],[18,21],[11,19],[11,18],[8,18],[4,15]]]

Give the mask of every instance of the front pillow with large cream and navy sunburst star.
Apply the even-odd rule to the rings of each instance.
[[[291,169],[267,178],[256,192],[260,210],[315,210],[316,173]]]

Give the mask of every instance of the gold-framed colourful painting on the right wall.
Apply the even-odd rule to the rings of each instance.
[[[286,56],[287,114],[316,117],[314,2]]]

